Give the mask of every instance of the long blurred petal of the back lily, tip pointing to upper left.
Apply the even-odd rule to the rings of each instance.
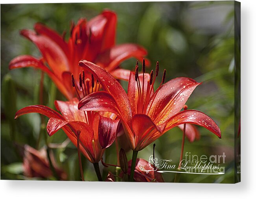
[[[53,73],[59,74],[59,76],[57,76],[59,79],[61,79],[62,72],[69,71],[68,60],[64,51],[57,43],[52,41],[52,39],[31,30],[22,30],[20,34],[35,43]]]

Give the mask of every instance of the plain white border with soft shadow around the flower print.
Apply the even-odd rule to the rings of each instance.
[[[129,0],[128,0],[129,1]],[[143,1],[143,0],[141,0]],[[59,3],[71,0],[0,0],[10,3]],[[75,2],[93,2],[79,1]],[[100,0],[98,2],[109,2]],[[111,2],[120,2],[114,1]],[[131,2],[131,1],[129,1]],[[0,181],[1,198],[175,198],[222,199],[256,196],[256,1],[241,0],[241,183],[100,183],[57,181]],[[2,49],[3,50],[3,49]]]

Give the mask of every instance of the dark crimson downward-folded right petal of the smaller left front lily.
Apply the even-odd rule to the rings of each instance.
[[[99,115],[99,143],[102,148],[107,148],[116,139],[120,119],[113,120]]]

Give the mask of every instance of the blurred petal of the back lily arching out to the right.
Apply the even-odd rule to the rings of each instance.
[[[106,68],[107,71],[113,71],[124,60],[134,57],[137,60],[142,61],[146,55],[147,51],[140,45],[125,43],[116,45],[111,49],[99,54],[95,63]],[[146,66],[149,66],[149,60],[145,59],[145,64]]]

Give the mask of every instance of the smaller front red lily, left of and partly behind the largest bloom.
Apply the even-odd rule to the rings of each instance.
[[[43,105],[28,106],[17,111],[15,119],[27,113],[40,113],[48,118],[47,132],[52,136],[60,128],[77,147],[77,136],[80,139],[79,148],[91,163],[98,163],[103,156],[105,148],[109,147],[116,139],[119,119],[112,114],[104,117],[97,112],[84,112],[77,109],[78,100],[55,101],[55,107],[61,112]],[[106,113],[105,115],[109,115]],[[111,119],[113,118],[113,119]]]

